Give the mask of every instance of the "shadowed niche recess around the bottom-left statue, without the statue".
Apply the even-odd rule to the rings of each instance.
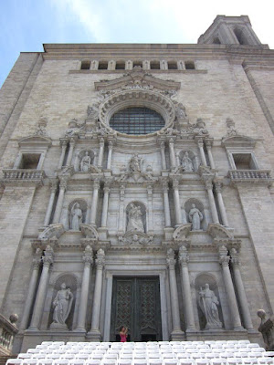
[[[74,319],[74,312],[75,312],[75,302],[77,297],[77,289],[78,289],[78,280],[77,277],[69,274],[69,273],[63,273],[56,279],[54,286],[53,286],[53,292],[52,292],[52,300],[50,305],[50,311],[49,311],[49,317],[48,317],[48,327],[55,327],[56,324],[53,324],[54,322],[54,311],[58,310],[56,308],[58,303],[58,291],[61,289],[62,285],[65,284],[66,288],[69,289],[69,292],[71,293],[71,304],[68,304],[69,313],[68,318],[65,321],[65,327],[67,326],[68,330],[72,330],[73,328],[73,319]],[[61,307],[61,303],[59,304]],[[58,327],[58,324],[57,324]]]

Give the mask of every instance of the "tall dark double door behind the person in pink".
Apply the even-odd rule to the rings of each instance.
[[[113,277],[111,341],[120,340],[121,326],[128,328],[128,340],[162,340],[158,276]]]

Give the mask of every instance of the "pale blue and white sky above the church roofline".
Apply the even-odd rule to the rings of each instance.
[[[254,4],[252,4],[254,3]],[[217,15],[248,15],[274,48],[271,0],[0,0],[0,85],[43,43],[196,43]]]

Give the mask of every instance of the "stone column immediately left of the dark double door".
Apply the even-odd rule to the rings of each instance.
[[[105,265],[105,253],[100,248],[97,251],[97,258],[95,261],[96,264],[96,278],[95,278],[95,288],[94,288],[94,297],[93,297],[93,308],[92,308],[92,319],[91,319],[91,329],[90,329],[90,338],[93,341],[100,341],[100,304],[101,304],[101,289],[102,289],[102,276],[103,276],[103,267]]]

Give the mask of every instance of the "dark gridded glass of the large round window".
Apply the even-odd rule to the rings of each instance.
[[[164,127],[162,115],[155,110],[133,107],[112,115],[110,127],[125,134],[148,134]]]

